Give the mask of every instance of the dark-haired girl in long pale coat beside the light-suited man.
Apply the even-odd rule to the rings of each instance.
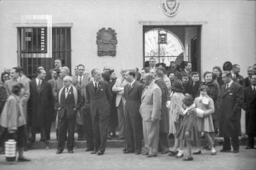
[[[177,138],[177,132],[179,131],[180,125],[182,124],[182,112],[184,109],[182,108],[182,100],[184,99],[184,88],[182,85],[182,81],[176,80],[173,83],[171,101],[168,103],[168,108],[170,108],[170,129],[169,133],[174,136],[174,146],[172,150],[170,150],[169,155],[174,156],[177,155],[179,145],[183,145],[184,141]]]

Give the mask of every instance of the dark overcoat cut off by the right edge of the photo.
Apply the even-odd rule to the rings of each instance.
[[[244,110],[246,134],[256,132],[256,92],[253,94],[252,86],[244,89]]]

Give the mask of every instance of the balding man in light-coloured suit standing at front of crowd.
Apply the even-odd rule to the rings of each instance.
[[[159,142],[159,121],[161,119],[161,89],[154,83],[152,74],[143,77],[146,85],[141,96],[140,114],[143,122],[145,155],[156,157]]]

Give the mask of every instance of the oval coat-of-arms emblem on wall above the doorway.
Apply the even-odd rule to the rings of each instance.
[[[161,0],[161,8],[165,15],[173,17],[179,12],[180,0]]]

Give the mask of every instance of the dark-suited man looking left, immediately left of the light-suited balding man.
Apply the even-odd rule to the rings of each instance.
[[[125,72],[125,80],[128,82],[124,87],[124,97],[126,100],[126,142],[124,153],[141,153],[142,147],[142,118],[140,115],[141,94],[145,88],[143,84],[135,80],[133,70]]]

